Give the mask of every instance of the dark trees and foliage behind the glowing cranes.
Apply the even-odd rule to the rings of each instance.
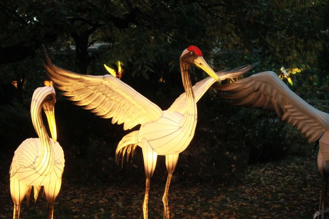
[[[29,106],[34,89],[47,80],[42,45],[55,64],[83,74],[106,74],[103,64],[117,68],[120,60],[122,80],[162,109],[183,92],[179,55],[189,45],[198,46],[215,71],[259,60],[246,76],[298,67],[302,71],[292,75],[294,85],[289,87],[328,111],[328,30],[324,0],[1,1],[1,182],[9,186],[7,171],[18,145],[36,137]],[[193,83],[204,77],[192,69]],[[139,149],[123,169],[114,163],[115,147],[125,135],[122,127],[72,105],[59,93],[55,114],[67,183],[143,187]],[[198,112],[194,140],[179,158],[173,183],[236,183],[249,164],[314,156],[313,145],[273,112],[231,107],[216,89],[198,103]],[[164,183],[164,159],[157,165],[153,181]],[[5,196],[3,200],[10,200],[9,193]]]

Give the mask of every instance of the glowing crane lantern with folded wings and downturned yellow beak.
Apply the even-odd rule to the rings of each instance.
[[[56,142],[55,89],[37,88],[31,102],[31,118],[39,138],[28,138],[16,149],[10,165],[10,193],[14,203],[13,219],[19,219],[20,205],[26,196],[29,202],[31,189],[34,189],[35,201],[44,186],[48,202],[48,219],[53,219],[54,201],[61,185],[64,169],[64,153]],[[44,110],[52,135],[47,134],[42,119]]]

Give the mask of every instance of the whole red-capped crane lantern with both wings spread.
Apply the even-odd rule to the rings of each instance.
[[[124,123],[124,130],[141,124],[138,131],[133,131],[120,141],[116,150],[118,157],[121,152],[138,145],[142,148],[146,175],[146,189],[143,201],[143,215],[148,218],[148,197],[150,179],[156,167],[157,156],[165,156],[168,177],[163,196],[164,218],[169,218],[168,189],[171,175],[177,164],[178,155],[184,151],[191,142],[197,123],[196,102],[216,81],[219,76],[207,64],[202,52],[196,46],[190,46],[180,56],[180,68],[185,93],[182,94],[168,110],[161,110],[157,105],[146,99],[133,88],[112,75],[89,76],[67,71],[55,66],[46,54],[45,68],[49,77],[57,84],[57,88],[65,91],[64,96],[75,101],[78,106],[91,110],[102,118],[111,118],[112,123]],[[207,72],[211,77],[206,78],[199,89],[192,88],[189,68],[194,64]],[[239,68],[238,73],[219,75],[226,79],[243,74]],[[122,155],[124,156],[124,154]]]

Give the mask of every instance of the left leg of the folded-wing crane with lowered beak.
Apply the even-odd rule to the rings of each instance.
[[[28,186],[20,182],[15,176],[10,178],[10,194],[14,203],[13,219],[19,219],[20,205],[23,202],[27,188]]]

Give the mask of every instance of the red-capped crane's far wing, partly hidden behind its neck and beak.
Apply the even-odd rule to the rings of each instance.
[[[225,80],[227,78],[233,78],[238,77],[245,72],[249,71],[253,67],[255,67],[259,62],[256,62],[251,65],[243,65],[238,68],[235,68],[230,71],[226,71],[227,69],[221,70],[217,72],[217,75],[219,76],[220,80]],[[198,102],[201,97],[208,91],[208,89],[216,82],[216,80],[213,77],[207,77],[199,82],[197,82],[193,86],[193,92],[195,101]],[[187,99],[186,99],[186,93],[182,93],[176,100],[173,102],[173,104],[170,106],[168,110],[170,111],[177,111],[181,114],[186,113],[186,105],[187,105]]]

